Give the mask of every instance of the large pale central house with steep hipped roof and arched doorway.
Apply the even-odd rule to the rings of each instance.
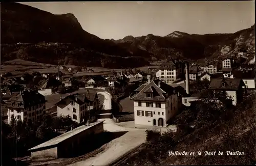
[[[131,97],[134,101],[135,125],[166,127],[166,122],[179,110],[181,97],[176,90],[160,79],[141,85]]]

